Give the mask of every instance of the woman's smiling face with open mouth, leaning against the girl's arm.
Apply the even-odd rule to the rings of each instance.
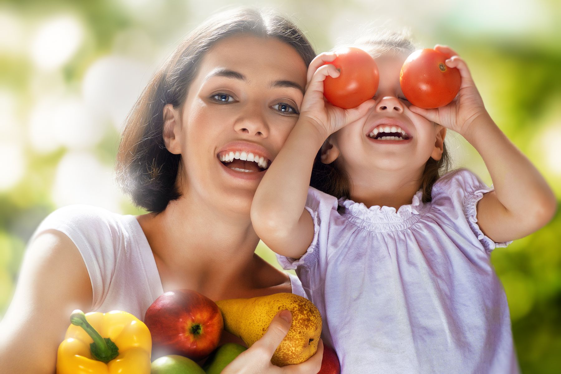
[[[295,49],[272,38],[231,36],[206,53],[181,112],[173,110],[168,149],[181,153],[183,196],[249,215],[298,119],[306,71]]]

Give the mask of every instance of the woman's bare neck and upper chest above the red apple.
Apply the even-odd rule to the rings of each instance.
[[[259,237],[248,214],[220,211],[183,196],[158,214],[138,217],[169,288],[190,285],[199,292],[239,283],[254,264]],[[164,285],[165,287],[165,285]],[[165,289],[164,289],[165,290]]]

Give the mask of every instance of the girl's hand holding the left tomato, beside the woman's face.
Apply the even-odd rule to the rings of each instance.
[[[346,124],[361,118],[372,108],[375,101],[370,99],[352,109],[342,109],[330,104],[323,95],[323,81],[325,77],[337,78],[341,72],[332,62],[337,54],[332,52],[321,53],[316,56],[307,73],[306,93],[300,108],[300,118],[298,121],[305,120],[318,128],[321,136],[327,138],[329,135],[339,130]]]

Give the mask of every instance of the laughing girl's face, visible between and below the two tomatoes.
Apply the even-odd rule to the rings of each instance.
[[[380,84],[376,105],[358,121],[335,132],[330,142],[339,151],[339,165],[358,180],[365,170],[411,170],[418,174],[426,161],[440,158],[437,135],[443,127],[409,110],[399,86],[399,72],[406,55],[384,54],[375,59]],[[382,138],[385,138],[385,140]]]

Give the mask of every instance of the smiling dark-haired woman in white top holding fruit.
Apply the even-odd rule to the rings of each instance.
[[[119,146],[119,181],[151,213],[79,205],[43,221],[0,324],[4,370],[52,373],[76,308],[144,319],[155,298],[178,288],[215,301],[303,294],[255,255],[250,207],[296,123],[314,56],[291,22],[256,10],[220,13],[187,36],[146,86]],[[279,315],[272,323],[230,372],[318,371],[322,344],[300,365],[270,364],[289,326]]]

